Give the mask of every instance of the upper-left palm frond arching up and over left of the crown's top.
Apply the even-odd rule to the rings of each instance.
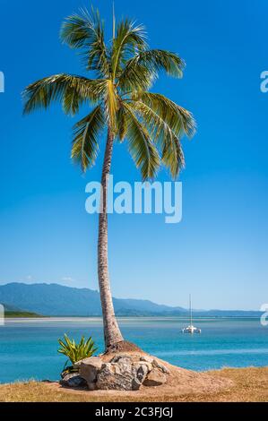
[[[81,14],[67,17],[60,37],[69,47],[82,51],[88,70],[96,71],[101,77],[108,77],[108,49],[104,41],[104,24],[98,10],[95,12],[92,8],[90,14],[86,9],[81,9]]]

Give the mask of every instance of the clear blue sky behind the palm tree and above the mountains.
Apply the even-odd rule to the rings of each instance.
[[[177,81],[155,90],[189,108],[198,123],[183,142],[183,220],[113,215],[109,260],[114,296],[198,308],[258,309],[268,301],[267,111],[260,73],[268,70],[266,0],[116,0],[117,17],[143,22],[151,47],[186,60]],[[85,0],[1,1],[0,282],[58,282],[98,288],[97,217],[84,211],[88,181],[70,161],[75,118],[59,106],[22,117],[23,88],[53,73],[83,73],[58,39],[60,24]],[[111,27],[111,2],[93,2]],[[117,145],[116,181],[139,180]],[[168,180],[165,171],[160,180]]]

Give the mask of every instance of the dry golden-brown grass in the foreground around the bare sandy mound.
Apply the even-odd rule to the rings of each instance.
[[[215,377],[225,377],[233,386],[224,391],[199,394],[163,394],[155,388],[153,396],[138,396],[132,393],[108,391],[90,392],[62,389],[57,383],[18,382],[0,385],[1,402],[101,402],[101,401],[268,401],[268,367],[224,368],[210,372]]]

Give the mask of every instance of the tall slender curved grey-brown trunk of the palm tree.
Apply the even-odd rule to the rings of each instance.
[[[109,277],[108,277],[108,176],[111,167],[114,136],[108,128],[106,150],[103,161],[101,185],[102,203],[99,211],[99,242],[98,242],[98,275],[99,294],[102,307],[103,329],[106,350],[123,340],[119,330],[112,301]]]

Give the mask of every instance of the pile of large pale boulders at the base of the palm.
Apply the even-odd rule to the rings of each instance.
[[[78,369],[76,380],[86,382],[90,391],[137,391],[142,385],[159,386],[167,382],[169,376],[169,369],[165,365],[141,354],[117,353],[108,360],[102,357],[85,358],[76,363],[75,368]]]

